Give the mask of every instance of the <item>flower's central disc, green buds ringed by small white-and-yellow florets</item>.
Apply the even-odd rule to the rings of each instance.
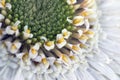
[[[96,18],[94,10],[80,4],[77,0],[0,0],[0,41],[31,76],[50,74],[56,79],[77,70],[86,65],[89,53],[84,50],[94,39]]]

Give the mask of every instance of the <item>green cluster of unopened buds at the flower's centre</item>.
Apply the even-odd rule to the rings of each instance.
[[[55,36],[66,28],[72,30],[73,26],[67,22],[67,17],[73,17],[74,10],[66,0],[7,0],[12,4],[8,11],[11,22],[21,21],[19,29],[28,25],[34,35],[32,41],[40,41],[41,36],[55,40]],[[11,24],[13,24],[11,23]]]

